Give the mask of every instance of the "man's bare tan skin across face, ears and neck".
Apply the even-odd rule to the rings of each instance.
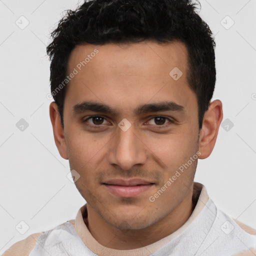
[[[155,201],[148,198],[197,151],[200,159],[210,155],[222,104],[210,103],[199,130],[196,94],[188,86],[187,51],[181,42],[79,45],[71,52],[68,73],[95,48],[98,53],[68,84],[64,128],[56,103],[50,103],[54,140],[70,169],[80,175],[75,184],[87,202],[87,226],[93,237],[109,248],[134,249],[174,232],[191,215],[197,160]],[[169,75],[174,67],[183,73],[178,80]],[[107,104],[116,113],[75,113],[73,106],[85,100]],[[133,112],[141,104],[160,101],[173,101],[184,111]],[[102,116],[102,124],[92,118],[82,122],[91,115]],[[157,116],[166,117],[160,119],[164,124],[155,120]],[[123,118],[131,124],[126,131],[118,126]],[[154,184],[126,198],[102,184],[113,178],[141,178]]]

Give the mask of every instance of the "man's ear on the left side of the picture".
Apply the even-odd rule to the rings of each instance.
[[[54,140],[55,140],[55,144],[58,148],[58,152],[62,158],[68,159],[64,130],[61,126],[58,107],[55,102],[50,103],[49,114],[50,114],[50,121],[52,124],[52,129],[53,129]]]

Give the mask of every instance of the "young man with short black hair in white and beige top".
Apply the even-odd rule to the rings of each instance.
[[[189,0],[93,0],[52,32],[49,113],[86,200],[8,255],[256,255],[193,182],[222,120],[214,40]]]

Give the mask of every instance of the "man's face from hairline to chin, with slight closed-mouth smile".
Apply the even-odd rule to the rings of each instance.
[[[80,175],[75,184],[88,210],[117,228],[156,223],[188,197],[197,163],[186,47],[80,45],[68,60],[68,73],[74,68],[60,153]]]

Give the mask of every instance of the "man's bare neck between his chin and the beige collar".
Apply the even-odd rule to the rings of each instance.
[[[152,244],[176,231],[189,218],[195,203],[192,199],[192,191],[189,191],[168,215],[143,229],[115,228],[106,223],[89,205],[87,205],[88,218],[84,219],[84,222],[92,236],[101,245],[119,250],[136,249]]]

